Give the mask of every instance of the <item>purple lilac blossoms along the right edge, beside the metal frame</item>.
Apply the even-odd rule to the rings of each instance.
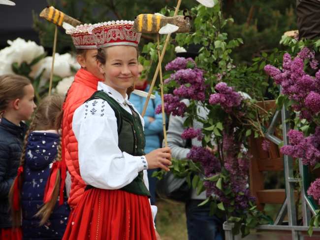
[[[264,70],[274,78],[275,84],[282,86],[282,94],[293,100],[291,107],[299,112],[301,120],[298,130],[288,132],[289,145],[282,146],[280,151],[315,167],[320,160],[320,71],[315,77],[307,75],[303,60],[310,60],[310,66],[317,68],[315,52],[304,47],[293,60],[288,53],[284,55],[282,70],[271,65],[266,65]],[[303,120],[306,122],[302,123]],[[320,201],[319,183],[320,179],[313,182],[307,193]]]

